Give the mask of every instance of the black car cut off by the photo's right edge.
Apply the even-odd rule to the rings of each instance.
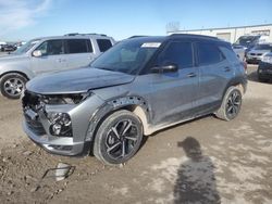
[[[261,82],[268,82],[272,79],[272,52],[265,54],[262,58],[257,73]]]

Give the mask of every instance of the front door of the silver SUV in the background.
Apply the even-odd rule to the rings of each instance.
[[[46,40],[35,51],[41,53],[40,56],[32,55],[30,67],[36,75],[61,71],[66,66],[64,44],[61,39]]]

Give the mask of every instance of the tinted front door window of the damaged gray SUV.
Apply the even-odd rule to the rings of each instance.
[[[178,68],[193,66],[193,49],[190,42],[170,42],[159,56],[159,65],[176,64]]]

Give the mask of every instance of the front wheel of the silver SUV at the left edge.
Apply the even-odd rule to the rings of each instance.
[[[2,95],[9,99],[20,99],[27,79],[16,73],[5,74],[0,80]]]

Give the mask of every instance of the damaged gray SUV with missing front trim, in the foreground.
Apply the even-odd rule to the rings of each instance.
[[[119,42],[90,66],[32,79],[23,128],[51,153],[129,160],[144,136],[208,114],[237,116],[247,78],[228,42],[172,35]]]

